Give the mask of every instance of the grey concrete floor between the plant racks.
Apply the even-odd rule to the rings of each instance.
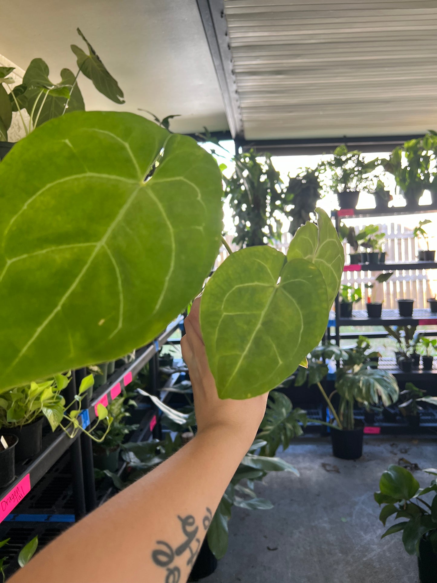
[[[418,583],[417,560],[401,533],[380,540],[385,528],[373,492],[399,458],[435,467],[436,445],[432,438],[367,437],[362,458],[343,461],[333,458],[329,438],[295,441],[280,456],[301,476],[272,472],[257,486],[272,510],[232,509],[228,552],[205,583]],[[431,482],[414,475],[422,487]]]

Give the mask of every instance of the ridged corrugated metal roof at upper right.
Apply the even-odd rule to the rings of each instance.
[[[437,0],[224,0],[246,139],[437,128]]]

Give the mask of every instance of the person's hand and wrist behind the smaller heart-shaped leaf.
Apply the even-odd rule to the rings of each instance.
[[[198,434],[212,427],[236,431],[249,447],[262,422],[268,393],[245,399],[220,399],[209,368],[199,323],[200,296],[196,297],[185,318],[185,336],[181,340],[182,357],[188,366],[193,387]]]

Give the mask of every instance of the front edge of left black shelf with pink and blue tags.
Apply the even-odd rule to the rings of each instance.
[[[179,316],[167,326],[167,329],[158,338],[153,340],[149,345],[137,351],[136,359],[133,363],[125,367],[120,373],[117,371],[112,375],[110,381],[100,387],[96,394],[93,395],[93,401],[88,409],[83,410],[80,414],[83,427],[89,426],[96,419],[96,410],[98,403],[107,405],[118,396],[122,388],[129,384],[136,374],[145,366],[145,364],[158,352],[161,346],[167,342],[168,338],[184,321]],[[45,475],[46,472],[54,465],[62,454],[75,441],[65,433],[55,431],[49,434],[43,440],[43,448],[40,455],[31,460],[20,464],[16,468],[17,476],[15,480],[0,491],[0,522],[15,508],[15,506],[28,494],[32,487]],[[76,437],[77,438],[77,437]]]

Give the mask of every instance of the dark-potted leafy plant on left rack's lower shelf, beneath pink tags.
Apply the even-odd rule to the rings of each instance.
[[[124,423],[125,417],[130,417],[124,406],[125,396],[120,395],[108,405],[108,414],[112,417],[111,428],[104,436],[102,429],[93,431],[93,436],[100,442],[93,442],[94,467],[100,470],[117,471],[118,455],[124,438],[138,429],[139,425],[128,425]]]

